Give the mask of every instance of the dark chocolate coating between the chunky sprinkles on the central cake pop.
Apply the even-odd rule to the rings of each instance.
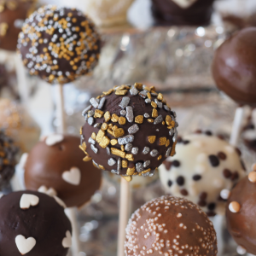
[[[136,85],[137,86],[137,85]],[[143,86],[143,84],[140,84],[140,86]],[[154,92],[154,89],[149,89],[145,87],[144,85],[144,90],[138,90],[140,93],[141,91],[144,91],[145,93],[148,93],[148,96],[145,96],[143,98],[142,96],[137,95],[131,95],[131,90],[136,89],[134,86],[128,86],[124,85],[123,88],[126,88],[127,92],[125,95],[116,95],[116,93],[119,93],[119,90],[121,90],[122,87],[117,88],[117,90],[109,90],[111,93],[109,95],[102,95],[102,98],[105,98],[105,102],[101,108],[102,113],[107,113],[109,112],[112,116],[113,114],[116,114],[118,118],[122,116],[120,112],[123,110],[119,106],[120,102],[122,99],[125,97],[128,98],[129,104],[127,108],[131,108],[134,118],[132,119],[131,122],[129,122],[127,116],[123,116],[125,118],[125,125],[120,125],[119,121],[113,122],[111,119],[106,122],[104,119],[104,116],[102,118],[93,118],[94,123],[90,125],[90,118],[88,119],[88,114],[90,113],[84,113],[85,119],[87,119],[84,127],[81,129],[81,135],[82,135],[82,143],[84,143],[84,151],[86,154],[88,154],[88,157],[92,158],[94,160],[95,164],[100,166],[102,170],[106,171],[111,171],[115,174],[119,175],[151,175],[154,174],[155,168],[160,166],[163,160],[166,159],[166,156],[169,156],[170,154],[175,154],[175,141],[177,138],[177,122],[175,121],[175,116],[176,113],[173,111],[170,111],[170,108],[166,106],[165,100],[163,99],[162,108],[153,108],[150,102],[148,101],[148,96],[151,96],[152,102],[154,102],[154,99],[156,99],[157,96],[162,96],[161,94],[157,94]],[[137,87],[138,88],[138,87]],[[149,92],[151,90],[151,92]],[[153,104],[153,103],[152,103]],[[156,105],[156,104],[155,104]],[[127,108],[124,108],[127,110]],[[168,108],[166,110],[166,108]],[[160,115],[162,117],[162,121],[158,124],[154,124],[154,121],[158,118],[153,118],[152,113],[153,109],[157,110],[158,112],[158,118],[160,118]],[[95,111],[96,108],[91,107],[90,111]],[[148,113],[148,118],[143,117],[143,123],[137,123],[136,122],[136,117],[137,116],[143,116],[145,113]],[[86,116],[87,115],[87,116]],[[166,125],[166,116],[169,116],[170,119],[172,119],[172,125],[168,126]],[[172,117],[171,117],[172,116]],[[152,123],[148,122],[148,119],[152,121]],[[111,151],[112,149],[115,150],[116,148],[121,152],[121,145],[120,143],[116,143],[112,145],[112,143],[108,142],[108,147],[102,148],[102,146],[99,143],[95,143],[94,145],[91,144],[90,137],[92,136],[93,132],[98,134],[98,132],[102,132],[102,127],[103,123],[106,125],[116,125],[119,129],[124,131],[124,134],[121,137],[114,137],[109,133],[109,130],[104,131],[105,136],[107,137],[107,140],[118,140],[122,139],[123,137],[130,136],[129,133],[129,128],[133,125],[136,125],[138,128],[138,131],[136,131],[134,134],[131,134],[133,137],[131,141],[131,148],[137,148],[138,152],[137,153],[132,153],[134,152],[132,149],[131,150],[126,150],[124,148],[123,156],[117,155],[117,154],[108,154],[108,149]],[[95,127],[96,124],[99,124],[99,128]],[[101,126],[102,125],[102,126]],[[168,128],[169,127],[169,128]],[[171,128],[172,127],[172,128]],[[173,131],[173,134],[170,135],[171,130]],[[155,136],[154,143],[149,143],[149,138]],[[165,138],[166,143],[160,145],[160,138]],[[164,140],[165,140],[164,139]],[[97,139],[96,139],[97,140]],[[93,142],[92,142],[93,143]],[[125,143],[126,145],[126,143]],[[124,146],[125,146],[124,145]],[[149,148],[148,154],[143,154],[143,149],[145,147]],[[97,153],[94,152],[92,148],[97,148]],[[156,149],[157,154],[153,154],[152,156],[152,150]],[[109,165],[108,160],[113,159],[115,164]],[[128,168],[127,167],[121,167],[120,169],[118,168],[118,160],[128,160]],[[148,166],[144,166],[140,171],[137,170],[136,165],[138,163],[145,163],[147,160],[150,161]],[[119,169],[119,170],[118,170]],[[129,172],[134,169],[134,172]]]

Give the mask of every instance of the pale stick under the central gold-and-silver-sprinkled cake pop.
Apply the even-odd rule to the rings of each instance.
[[[119,238],[118,256],[125,255],[125,228],[128,224],[131,201],[131,186],[125,178],[121,177],[120,204],[119,204]]]

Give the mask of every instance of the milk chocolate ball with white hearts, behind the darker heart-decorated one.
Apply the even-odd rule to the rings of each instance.
[[[67,207],[82,207],[100,188],[102,172],[84,162],[79,137],[54,134],[37,143],[26,158],[26,189],[55,194]]]

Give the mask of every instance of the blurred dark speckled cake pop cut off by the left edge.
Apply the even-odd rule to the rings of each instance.
[[[0,130],[0,190],[9,183],[15,173],[18,148],[10,137]]]

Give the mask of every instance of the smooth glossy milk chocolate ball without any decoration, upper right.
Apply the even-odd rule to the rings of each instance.
[[[256,27],[248,27],[227,39],[216,50],[212,75],[223,90],[240,105],[256,106]]]

